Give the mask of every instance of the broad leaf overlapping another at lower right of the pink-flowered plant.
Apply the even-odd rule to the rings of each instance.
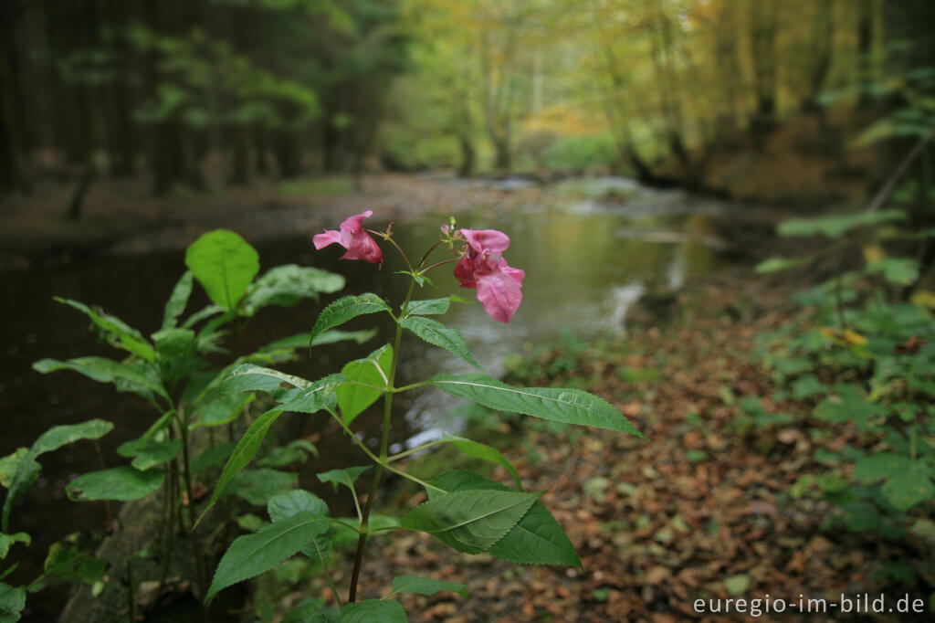
[[[493,489],[443,493],[412,509],[401,526],[428,532],[459,552],[478,554],[506,536],[539,495]]]

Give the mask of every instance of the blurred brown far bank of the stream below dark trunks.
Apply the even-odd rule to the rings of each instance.
[[[37,186],[33,196],[7,196],[0,211],[0,269],[68,263],[101,254],[181,249],[200,233],[234,229],[252,241],[312,232],[347,214],[374,210],[381,219],[426,211],[514,210],[539,201],[529,185],[498,189],[427,176],[374,174],[295,181],[256,181],[249,188],[154,197],[145,180],[99,182],[78,220],[65,216],[74,189]]]

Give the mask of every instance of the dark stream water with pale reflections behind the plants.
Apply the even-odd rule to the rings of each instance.
[[[509,325],[497,323],[483,312],[470,290],[461,296],[471,304],[453,305],[443,318],[446,324],[460,328],[477,360],[492,374],[501,371],[504,355],[548,340],[565,327],[585,336],[621,330],[626,307],[644,288],[678,288],[684,280],[710,273],[722,263],[717,240],[710,233],[720,213],[719,205],[700,203],[680,193],[639,189],[626,181],[590,184],[556,189],[559,196],[564,196],[563,193],[568,196],[560,202],[561,210],[542,208],[506,215],[490,209],[460,217],[460,226],[506,232],[511,237],[511,248],[505,257],[511,266],[526,271],[523,304]],[[589,198],[608,189],[626,195],[626,202],[602,203]],[[335,215],[334,226],[345,216]],[[395,238],[418,257],[438,239],[439,225],[447,222],[447,217],[439,213],[397,223]],[[378,219],[372,221],[367,225],[381,227]],[[250,232],[240,233],[250,240]],[[394,274],[403,265],[388,245],[383,245],[386,264],[378,270],[363,262],[339,262],[341,250],[337,247],[315,252],[310,245],[310,233],[256,244],[261,270],[286,263],[334,270],[348,278],[348,287],[341,294],[372,291],[398,305],[408,282]],[[190,241],[182,240],[182,246]],[[433,257],[439,260],[446,257],[444,252],[437,253]],[[99,305],[149,334],[161,324],[165,297],[184,270],[183,257],[181,249],[107,256],[65,267],[2,275],[0,297],[4,305],[0,331],[6,356],[0,358],[0,413],[4,418],[0,456],[29,446],[49,427],[99,417],[116,425],[101,440],[105,463],[109,467],[125,462],[114,449],[148,427],[157,413],[132,395],[115,393],[108,384],[95,384],[67,371],[41,375],[31,365],[43,357],[120,357],[94,339],[88,322],[79,312],[53,302],[51,297]],[[426,286],[416,297],[457,292],[452,269],[453,265],[448,265],[431,274],[436,287]],[[188,312],[205,303],[205,297],[196,292]],[[310,301],[288,310],[267,308],[244,328],[242,349],[246,351],[309,330],[319,309],[319,305]],[[318,378],[338,371],[350,358],[367,355],[392,335],[389,324],[378,316],[360,318],[355,326],[381,326],[381,336],[359,347],[335,345],[316,349],[312,359],[306,357],[284,369],[306,378]],[[405,383],[439,371],[468,369],[467,364],[452,355],[424,347],[412,336],[404,343],[402,355],[399,374],[400,381]],[[437,393],[400,398],[396,403],[397,427],[393,439],[396,449],[413,437],[425,439],[442,429],[456,427],[449,416],[452,402],[439,398]],[[375,406],[371,412],[378,410]],[[362,426],[370,420],[376,424],[378,418],[374,415],[362,416],[358,422]],[[324,416],[317,420],[324,421]],[[316,420],[304,424],[306,432],[316,426]],[[378,426],[370,427],[373,436],[378,434],[375,429]],[[329,438],[319,446],[322,456],[310,462],[301,476],[301,485],[323,494],[327,491],[314,480],[315,472],[365,462],[350,442]],[[71,478],[100,469],[100,457],[91,442],[66,446],[40,457],[40,462],[44,467],[42,480],[12,516],[12,531],[25,530],[34,537],[29,548],[32,556],[10,578],[14,584],[27,582],[39,572],[49,543],[75,529],[102,529],[105,521],[102,504],[74,504],[65,500],[64,487]],[[340,506],[342,502],[335,503]],[[343,510],[347,513],[350,507]],[[22,551],[22,545],[16,545],[7,562],[22,558]],[[26,620],[43,618],[36,613]]]

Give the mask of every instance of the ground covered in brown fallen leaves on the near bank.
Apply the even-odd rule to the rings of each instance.
[[[403,598],[410,621],[449,623],[841,620],[846,616],[830,604],[842,594],[865,593],[870,599],[885,593],[890,606],[909,594],[931,607],[931,587],[922,579],[885,578],[899,561],[927,555],[922,539],[888,543],[823,528],[833,507],[817,492],[790,495],[803,474],[827,471],[816,450],[859,441],[853,430],[810,420],[807,403],[771,398],[770,376],[755,363],[753,349],[759,332],[794,313],[783,290],[721,279],[696,283],[680,298],[668,326],[637,328],[597,350],[541,352],[522,379],[513,379],[556,386],[585,380],[585,388],[610,400],[648,442],[597,429],[555,433],[515,423],[470,435],[504,450],[526,490],[545,491],[541,500],[567,530],[583,569],[521,567],[457,554],[424,534],[400,533],[370,545],[374,562],[365,566],[364,597],[386,594],[398,574],[464,584],[468,600],[452,593]],[[569,360],[577,363],[569,366]],[[744,397],[759,397],[768,412],[790,413],[793,422],[753,427]],[[448,457],[426,460],[436,468],[454,465]],[[505,471],[495,477],[509,480]],[[423,498],[404,488],[396,503],[402,513]],[[709,600],[728,598],[747,599],[748,614],[695,609],[698,599],[710,613]],[[750,616],[750,600],[757,598],[772,606],[784,600],[785,614],[767,614],[770,606],[762,601],[761,616]],[[800,612],[818,599],[827,600],[827,611],[813,601],[811,612]],[[930,620],[926,616],[848,620]]]

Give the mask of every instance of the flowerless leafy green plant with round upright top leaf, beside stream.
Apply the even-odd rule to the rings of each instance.
[[[164,566],[160,586],[165,582],[168,564],[173,556],[174,519],[193,508],[194,476],[212,466],[222,464],[235,450],[234,443],[216,444],[213,435],[209,443],[194,443],[196,429],[227,427],[233,434],[234,424],[249,412],[252,395],[237,395],[222,391],[237,369],[244,366],[269,365],[294,359],[298,349],[309,344],[309,334],[277,340],[249,355],[237,355],[237,342],[243,324],[270,305],[291,307],[320,293],[334,293],[344,286],[344,278],[318,268],[295,265],[271,268],[263,275],[259,256],[244,239],[230,231],[209,232],[197,239],[185,257],[188,271],[180,278],[165,303],[163,322],[159,330],[145,337],[120,318],[93,309],[79,301],[56,298],[61,303],[84,313],[100,338],[123,352],[122,359],[90,356],[67,361],[42,359],[34,368],[42,373],[70,369],[99,383],[114,384],[117,391],[131,392],[151,404],[155,416],[151,426],[137,439],[122,443],[117,449],[127,463],[83,474],[70,482],[65,491],[71,500],[138,500],[163,491],[162,541]],[[210,304],[187,317],[189,297],[194,282],[204,287]],[[363,342],[371,331],[324,331],[312,343],[336,340]],[[232,347],[226,345],[230,339]],[[232,352],[233,349],[233,352]],[[213,361],[226,359],[218,366]],[[276,379],[274,384],[281,383]],[[273,412],[281,413],[281,412]],[[269,422],[266,415],[253,423],[251,431]],[[270,422],[271,423],[271,422]],[[8,531],[9,515],[30,485],[36,482],[39,465],[36,457],[65,443],[79,439],[96,439],[112,425],[92,420],[74,427],[54,427],[42,435],[29,450],[18,450],[3,459],[3,472],[9,491],[3,507],[3,531]],[[234,459],[241,452],[238,447]],[[266,457],[261,469],[239,474],[236,482],[219,495],[237,494],[256,504],[295,485],[295,475],[277,471],[296,461],[305,460],[315,448],[308,442],[296,441]],[[255,449],[253,450],[255,454]],[[208,589],[205,548],[189,513],[186,531],[193,549],[201,594]],[[3,538],[7,540],[7,535]],[[9,543],[22,541],[11,535]],[[7,543],[4,541],[3,543]],[[8,543],[7,543],[8,544]],[[6,552],[5,552],[6,553]],[[48,565],[47,565],[48,566]],[[79,577],[83,577],[79,574]],[[22,593],[11,589],[5,593],[9,603],[19,604]],[[12,606],[11,606],[12,607]]]

